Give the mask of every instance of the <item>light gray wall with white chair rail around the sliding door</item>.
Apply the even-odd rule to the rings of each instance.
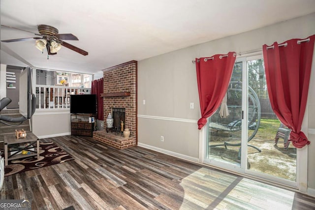
[[[315,13],[139,61],[139,145],[173,152],[189,159],[198,158],[199,132],[196,121],[200,118],[200,111],[195,65],[191,60],[214,54],[226,54],[229,51],[246,52],[262,49],[263,44],[271,45],[275,41],[281,43],[292,38],[306,38],[315,34],[314,23]],[[145,105],[143,100],[146,100]],[[194,103],[194,109],[189,109],[190,102]],[[310,87],[308,106],[307,116],[310,116],[310,120],[306,133],[315,129],[315,120],[311,117],[315,115],[314,85]],[[306,124],[307,122],[308,120]],[[160,136],[164,136],[164,142],[160,141]],[[315,189],[315,181],[312,180],[315,177],[314,136],[309,136],[313,143],[308,147],[310,166],[308,184],[313,189]]]

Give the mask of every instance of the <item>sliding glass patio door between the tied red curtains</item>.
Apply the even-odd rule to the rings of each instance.
[[[296,185],[290,130],[272,111],[262,56],[237,59],[217,112],[208,119],[206,163]]]

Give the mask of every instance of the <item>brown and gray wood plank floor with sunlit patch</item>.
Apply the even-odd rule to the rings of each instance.
[[[5,177],[0,199],[32,199],[32,210],[315,209],[313,197],[141,147],[76,136],[41,141],[75,160]]]

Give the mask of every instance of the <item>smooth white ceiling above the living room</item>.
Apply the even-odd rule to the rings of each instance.
[[[42,54],[35,40],[1,42],[0,62],[16,66],[96,73],[191,45],[261,28],[315,12],[315,0],[1,0],[0,22],[33,32],[50,25],[72,33],[63,47]],[[34,37],[1,27],[1,40]]]

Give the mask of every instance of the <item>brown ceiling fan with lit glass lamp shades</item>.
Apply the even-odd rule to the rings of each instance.
[[[18,29],[15,27],[5,26],[5,25],[1,25],[1,27],[7,27],[11,29],[16,29],[16,30],[23,30],[23,29]],[[63,41],[63,40],[79,40],[72,33],[59,33],[58,29],[52,26],[48,26],[48,25],[38,25],[37,29],[38,29],[39,34],[34,33],[32,31],[28,31],[28,30],[23,30],[23,31],[30,32],[30,33],[33,33],[34,35],[41,36],[41,37],[8,39],[8,40],[1,40],[1,42],[17,42],[17,41],[26,41],[26,40],[35,39],[36,48],[41,51],[43,51],[43,49],[46,48],[48,55],[56,55],[57,51],[59,51],[62,46],[69,48],[70,50],[73,50],[84,56],[87,56],[89,54],[88,52]]]

